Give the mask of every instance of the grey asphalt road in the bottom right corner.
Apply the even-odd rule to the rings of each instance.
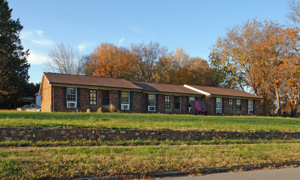
[[[164,179],[164,178],[162,178]],[[254,170],[241,173],[213,173],[203,176],[174,177],[172,180],[300,180],[300,167]],[[171,179],[168,179],[171,180]]]

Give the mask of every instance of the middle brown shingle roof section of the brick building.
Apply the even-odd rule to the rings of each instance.
[[[180,93],[180,94],[201,94],[200,92],[194,91],[192,89],[186,88],[182,85],[175,84],[158,84],[158,83],[145,83],[145,82],[135,82],[130,81],[136,86],[144,89],[144,91],[153,92],[167,92],[167,93]]]

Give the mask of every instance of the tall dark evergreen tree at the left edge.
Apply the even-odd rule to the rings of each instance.
[[[23,51],[19,38],[23,26],[11,19],[11,12],[8,2],[0,0],[0,109],[16,108],[29,80],[29,50]]]

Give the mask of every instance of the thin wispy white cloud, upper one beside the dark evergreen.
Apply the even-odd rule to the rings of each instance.
[[[34,42],[38,45],[48,46],[54,44],[50,39],[43,37],[44,31],[41,30],[23,30],[20,37],[22,42]]]

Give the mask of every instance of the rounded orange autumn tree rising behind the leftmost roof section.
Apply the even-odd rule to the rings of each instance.
[[[92,76],[127,79],[126,69],[130,58],[131,52],[128,49],[113,43],[101,43],[91,53],[89,60],[94,71]]]

